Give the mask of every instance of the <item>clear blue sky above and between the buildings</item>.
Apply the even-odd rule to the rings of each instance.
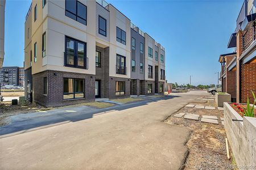
[[[168,82],[216,84],[243,1],[107,1],[166,48]],[[31,1],[6,1],[4,66],[23,66],[24,20]]]

